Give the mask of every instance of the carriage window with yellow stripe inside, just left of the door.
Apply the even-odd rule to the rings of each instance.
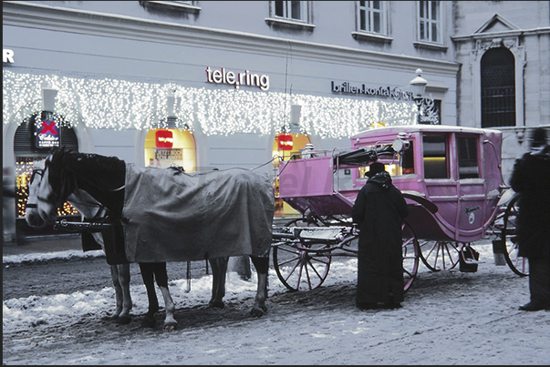
[[[424,150],[424,178],[449,178],[445,135],[425,134],[422,148]]]

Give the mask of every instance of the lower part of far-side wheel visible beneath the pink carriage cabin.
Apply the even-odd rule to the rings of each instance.
[[[459,262],[459,248],[454,242],[420,241],[420,259],[431,271],[451,270]]]

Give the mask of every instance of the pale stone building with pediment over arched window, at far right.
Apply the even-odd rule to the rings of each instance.
[[[550,131],[550,2],[453,2],[457,124],[503,131],[503,175],[528,148],[534,127]]]

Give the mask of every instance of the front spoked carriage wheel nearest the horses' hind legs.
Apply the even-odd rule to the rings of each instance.
[[[293,219],[286,227],[318,227],[316,221]],[[293,242],[273,248],[273,263],[277,277],[290,291],[310,291],[327,279],[331,256],[327,244]]]

